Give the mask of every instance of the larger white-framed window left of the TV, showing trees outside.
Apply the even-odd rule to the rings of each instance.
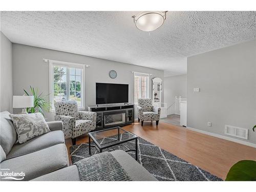
[[[84,65],[49,60],[50,102],[75,100],[84,109]]]

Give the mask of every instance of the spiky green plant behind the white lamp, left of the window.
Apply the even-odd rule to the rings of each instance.
[[[43,116],[45,116],[44,111],[49,111],[51,107],[51,103],[46,100],[46,97],[49,95],[41,96],[42,93],[38,95],[38,90],[34,89],[30,86],[31,96],[34,96],[34,106],[32,108],[27,108],[28,113],[39,112]],[[24,90],[26,95],[30,95],[26,90]]]

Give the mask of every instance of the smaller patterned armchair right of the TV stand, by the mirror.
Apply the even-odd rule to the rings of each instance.
[[[141,126],[144,121],[156,121],[158,125],[161,108],[152,105],[152,99],[138,99],[138,120]]]

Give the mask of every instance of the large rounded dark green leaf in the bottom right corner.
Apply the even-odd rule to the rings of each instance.
[[[256,161],[237,162],[230,168],[226,181],[256,181]]]

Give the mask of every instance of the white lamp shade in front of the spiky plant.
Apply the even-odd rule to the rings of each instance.
[[[13,108],[31,108],[34,106],[34,96],[13,96]]]

